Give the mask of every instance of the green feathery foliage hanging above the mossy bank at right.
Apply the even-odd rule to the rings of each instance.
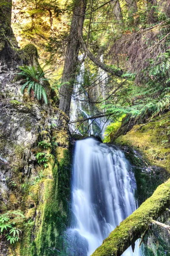
[[[128,114],[130,117],[140,120],[152,119],[170,106],[170,51],[157,56],[156,63],[150,59],[150,66],[142,70],[147,82],[136,85],[135,74],[126,73],[126,86],[122,89],[122,97],[117,102],[102,105],[106,113],[114,113],[117,117]],[[119,91],[118,91],[119,93]]]

